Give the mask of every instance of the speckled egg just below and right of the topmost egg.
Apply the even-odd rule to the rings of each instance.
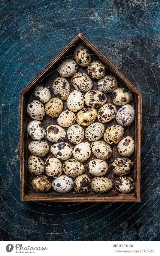
[[[102,62],[93,61],[88,65],[87,71],[90,77],[101,79],[106,73],[106,68]]]

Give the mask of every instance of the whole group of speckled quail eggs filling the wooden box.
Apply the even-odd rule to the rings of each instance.
[[[92,62],[86,47],[75,48],[74,60],[62,61],[57,67],[59,77],[52,81],[52,90],[38,85],[34,91],[35,99],[27,106],[27,113],[33,119],[27,126],[33,139],[28,145],[32,188],[39,193],[51,188],[59,193],[72,189],[77,193],[90,190],[104,193],[114,186],[121,193],[130,193],[134,181],[126,175],[133,167],[128,157],[134,152],[134,139],[123,136],[124,127],[134,121],[134,108],[128,104],[132,94],[126,88],[118,88],[116,77],[106,75],[103,63]],[[86,67],[85,73],[78,72],[79,66]],[[71,80],[67,80],[68,77]],[[70,91],[70,84],[75,90]],[[94,85],[97,90],[93,89]],[[109,94],[112,103],[107,102]],[[50,125],[44,128],[46,115],[50,117]],[[110,125],[114,120],[116,124]],[[114,144],[120,157],[111,164],[116,177],[113,180],[106,174],[110,167],[107,160],[113,153]],[[86,163],[86,160],[90,161]],[[52,183],[50,179],[53,179]]]

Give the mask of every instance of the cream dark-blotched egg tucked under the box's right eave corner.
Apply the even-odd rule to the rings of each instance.
[[[130,102],[132,99],[132,94],[125,88],[117,88],[112,93],[113,103],[118,106],[123,106]]]

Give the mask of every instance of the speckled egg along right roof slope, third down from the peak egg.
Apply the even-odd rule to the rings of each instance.
[[[118,81],[116,77],[112,75],[107,75],[103,78],[101,78],[98,82],[98,90],[104,93],[108,92],[113,92],[117,86],[118,86]]]

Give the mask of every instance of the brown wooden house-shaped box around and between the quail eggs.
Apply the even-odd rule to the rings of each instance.
[[[133,95],[133,101],[129,104],[134,106],[135,109],[135,120],[134,122],[128,127],[125,128],[125,135],[130,135],[134,137],[135,141],[135,150],[134,153],[129,157],[134,162],[133,171],[129,176],[135,182],[134,191],[130,194],[121,194],[117,190],[115,190],[114,186],[111,191],[103,194],[97,194],[92,190],[88,191],[85,194],[78,194],[74,189],[65,194],[60,194],[52,189],[45,194],[39,194],[35,192],[31,187],[31,180],[33,175],[29,172],[27,168],[28,158],[31,155],[28,150],[28,144],[33,141],[33,139],[27,134],[27,125],[32,119],[27,116],[27,104],[29,101],[34,99],[34,90],[38,84],[49,85],[51,87],[53,80],[59,76],[58,72],[56,71],[57,65],[62,62],[65,58],[72,58],[74,59],[74,48],[79,45],[84,44],[92,54],[92,61],[99,60],[106,66],[106,74],[113,74],[117,77],[119,85],[118,87],[127,87],[131,90]],[[78,67],[78,71],[80,72],[87,72],[87,68]],[[71,85],[71,77],[67,78]],[[96,80],[94,81],[93,89],[96,89]],[[71,86],[71,91],[74,88]],[[54,96],[54,95],[52,95]],[[107,103],[112,103],[111,96],[107,93]],[[64,102],[64,108],[66,106],[66,101]],[[119,109],[119,106],[117,109]],[[47,115],[44,119],[44,127],[46,128],[48,125],[57,124],[56,118],[50,118]],[[117,124],[116,120],[107,123],[105,128],[110,125]],[[67,128],[65,128],[67,130]],[[124,136],[125,136],[124,135]],[[44,137],[44,140],[47,140]],[[66,140],[66,142],[69,142]],[[52,142],[47,140],[49,147],[53,144]],[[70,142],[69,142],[70,143]],[[74,201],[74,202],[137,202],[140,201],[140,145],[141,145],[141,93],[131,84],[109,61],[105,58],[101,52],[96,49],[92,43],[90,43],[82,34],[77,35],[68,46],[60,52],[53,61],[50,62],[47,67],[44,68],[43,71],[38,74],[34,80],[27,85],[27,87],[20,93],[20,177],[21,177],[21,200],[22,201]],[[74,147],[75,145],[73,145]],[[111,163],[119,157],[119,153],[117,150],[117,144],[111,145],[113,152],[111,157],[107,160],[108,165],[110,166]],[[45,156],[45,159],[51,155],[49,150],[48,154]],[[88,163],[90,160],[94,159],[95,156],[91,154],[91,157],[84,164]],[[43,159],[43,160],[45,160]],[[64,162],[64,161],[62,161]],[[109,171],[106,174],[110,175],[110,178],[114,181],[114,174],[109,167]],[[52,179],[51,179],[52,180]]]

